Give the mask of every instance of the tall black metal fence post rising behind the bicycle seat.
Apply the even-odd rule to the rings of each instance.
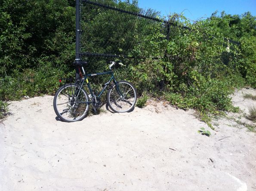
[[[76,0],[76,62],[80,61],[80,0]],[[76,80],[80,79],[78,67],[76,67]]]

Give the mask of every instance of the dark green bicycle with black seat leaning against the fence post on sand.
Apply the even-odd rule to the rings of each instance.
[[[94,111],[101,106],[100,97],[106,90],[108,90],[107,103],[112,111],[116,113],[132,111],[137,101],[137,90],[133,84],[128,81],[115,80],[112,67],[117,64],[120,63],[111,62],[109,71],[86,74],[83,66],[87,65],[87,62],[73,62],[73,65],[77,66],[79,69],[80,80],[77,80],[76,83],[65,83],[56,91],[53,99],[53,108],[59,119],[64,122],[83,120],[88,114],[90,104],[93,105]],[[111,75],[111,78],[103,85],[101,92],[96,95],[87,77],[105,74]],[[86,83],[89,89],[90,96],[83,88],[84,83]]]

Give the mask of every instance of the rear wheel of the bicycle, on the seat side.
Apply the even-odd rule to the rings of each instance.
[[[82,120],[89,111],[89,96],[77,84],[61,86],[53,99],[56,115],[65,122]]]

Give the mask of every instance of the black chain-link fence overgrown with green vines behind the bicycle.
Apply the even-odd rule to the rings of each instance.
[[[223,37],[219,41],[220,36],[215,37],[204,28],[185,26],[180,15],[161,18],[154,10],[145,11],[136,4],[112,0],[81,0],[80,10],[80,55],[89,63],[87,72],[102,71],[113,60],[133,65],[146,59],[171,62],[172,72],[185,79],[189,67],[212,77],[220,70],[225,71],[225,66],[235,67],[229,64],[235,59],[229,49],[236,49],[239,42]],[[221,47],[222,54],[204,55],[203,50],[198,51],[214,44]],[[174,46],[176,51],[187,51],[190,55],[173,52]],[[168,66],[160,65],[168,73]],[[155,83],[159,81],[167,84],[158,78]]]

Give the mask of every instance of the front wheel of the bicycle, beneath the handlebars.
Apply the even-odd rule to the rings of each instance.
[[[119,81],[113,84],[112,88],[108,90],[107,102],[108,106],[117,113],[124,113],[131,111],[137,101],[136,88],[127,81]]]

